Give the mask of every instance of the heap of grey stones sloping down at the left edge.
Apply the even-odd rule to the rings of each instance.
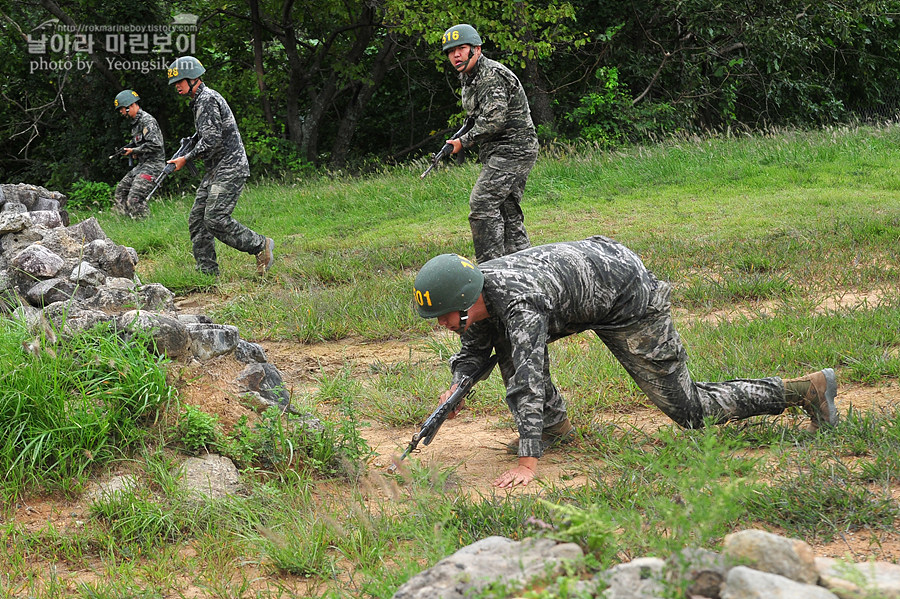
[[[110,323],[123,336],[149,331],[156,351],[173,360],[233,354],[246,364],[237,387],[262,406],[291,409],[281,373],[262,347],[205,315],[180,314],[175,294],[141,284],[134,248],[117,244],[95,218],[69,224],[66,197],[37,185],[0,184],[0,298],[13,317],[51,343]]]

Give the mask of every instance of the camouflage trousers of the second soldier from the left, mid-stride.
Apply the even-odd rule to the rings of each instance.
[[[263,250],[266,238],[245,225],[231,213],[237,206],[247,177],[204,177],[188,216],[194,260],[200,272],[217,275],[216,239],[234,249],[256,255]]]

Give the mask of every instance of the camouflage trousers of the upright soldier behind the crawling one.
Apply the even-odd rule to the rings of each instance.
[[[486,262],[531,247],[520,206],[537,149],[516,158],[487,159],[469,196],[469,226],[475,261]]]

